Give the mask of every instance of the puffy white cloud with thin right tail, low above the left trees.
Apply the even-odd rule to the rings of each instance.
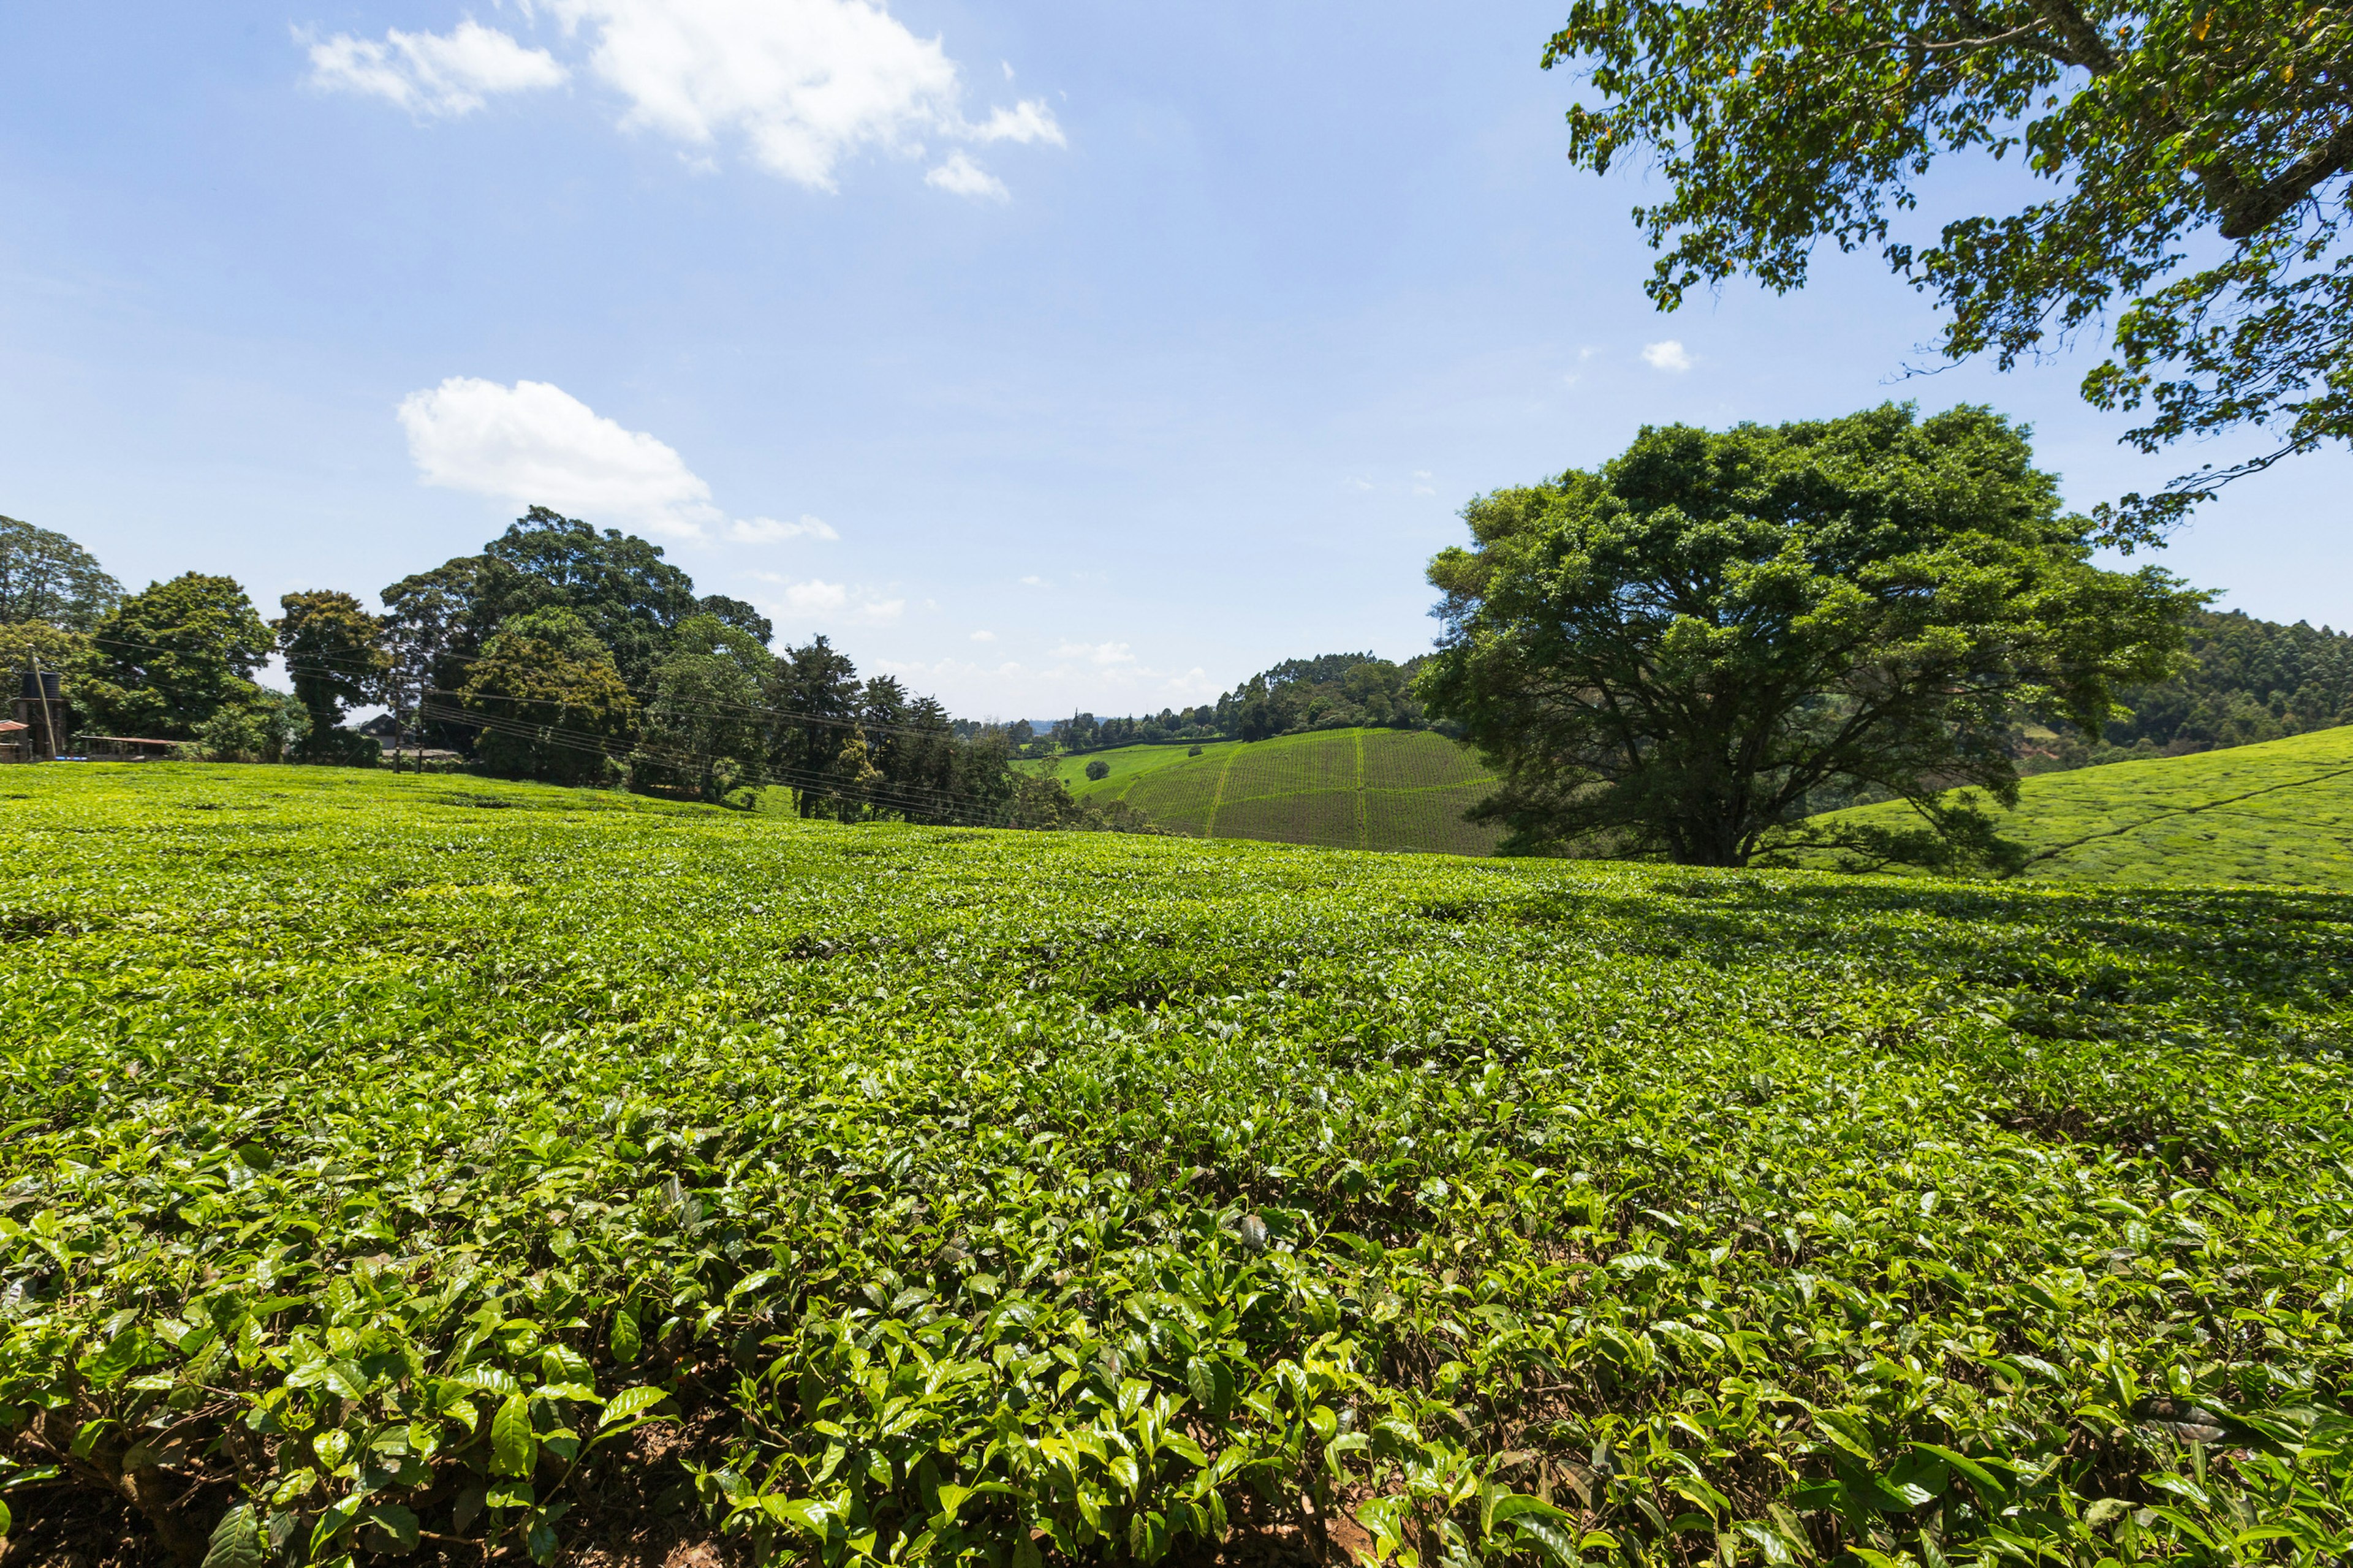
[[[449,376],[400,400],[400,428],[426,484],[553,505],[673,538],[708,538],[713,529],[741,543],[835,538],[816,517],[729,520],[675,447],[605,418],[546,381],[499,386]]]

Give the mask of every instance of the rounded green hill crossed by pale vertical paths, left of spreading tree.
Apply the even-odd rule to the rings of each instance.
[[[1198,839],[1264,839],[1329,849],[1494,853],[1501,830],[1461,820],[1492,776],[1445,736],[1407,729],[1320,729],[1273,741],[1122,745],[1061,757],[1080,799],[1125,799]],[[1111,776],[1087,778],[1089,762]]]

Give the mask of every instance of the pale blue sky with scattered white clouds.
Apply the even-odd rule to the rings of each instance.
[[[1405,658],[1468,496],[1642,423],[1991,402],[2080,505],[2238,451],[2120,449],[2082,355],[1906,381],[1934,317],[1868,256],[1657,315],[1560,9],[5,5],[0,512],[273,614],[541,498],[1045,717]],[[2348,489],[2158,559],[2348,625]]]

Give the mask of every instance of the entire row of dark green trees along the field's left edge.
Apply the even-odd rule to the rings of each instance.
[[[751,604],[696,595],[656,545],[548,508],[381,599],[379,616],[348,592],[292,592],[264,623],[233,578],[191,571],[125,595],[73,541],[0,529],[0,637],[19,668],[64,670],[94,731],[372,762],[376,738],[344,722],[384,705],[395,745],[508,778],[704,799],[781,783],[802,816],[1141,827],[1016,771],[1002,729],[958,724],[887,675],[859,679],[824,637],[772,654]],[[254,679],[273,654],[292,693]]]

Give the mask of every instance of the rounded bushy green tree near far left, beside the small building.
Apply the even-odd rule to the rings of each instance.
[[[224,708],[261,698],[275,637],[235,578],[188,571],[99,618],[73,668],[73,705],[104,731],[186,741]]]

